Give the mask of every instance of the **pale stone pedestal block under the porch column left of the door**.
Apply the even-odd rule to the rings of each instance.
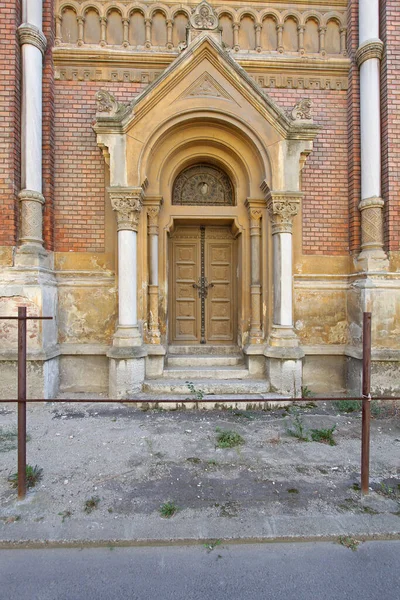
[[[146,350],[142,347],[112,348],[107,356],[110,359],[109,397],[129,400],[133,394],[141,392]]]

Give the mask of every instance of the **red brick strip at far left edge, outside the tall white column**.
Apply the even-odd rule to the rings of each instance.
[[[20,0],[0,0],[0,246],[17,239],[20,190]]]

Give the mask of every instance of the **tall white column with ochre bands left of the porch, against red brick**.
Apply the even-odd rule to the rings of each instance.
[[[18,39],[22,53],[21,185],[19,242],[24,252],[43,253],[42,71],[46,38],[42,0],[24,0]]]

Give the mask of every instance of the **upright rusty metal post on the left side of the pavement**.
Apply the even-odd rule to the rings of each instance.
[[[26,306],[18,307],[18,500],[26,496]]]

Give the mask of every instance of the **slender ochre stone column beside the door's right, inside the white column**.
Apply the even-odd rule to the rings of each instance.
[[[265,200],[248,198],[246,206],[250,218],[250,344],[260,344],[263,338],[261,327],[261,219],[264,212]]]

